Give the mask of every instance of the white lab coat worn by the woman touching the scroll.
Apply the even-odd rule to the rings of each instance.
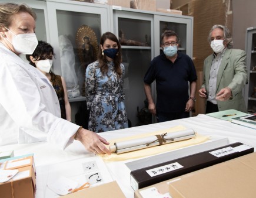
[[[0,145],[48,141],[64,149],[78,128],[61,118],[48,78],[0,43]]]

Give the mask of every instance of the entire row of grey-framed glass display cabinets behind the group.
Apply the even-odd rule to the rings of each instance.
[[[125,66],[125,105],[131,126],[155,122],[146,118],[147,101],[144,93],[144,75],[151,60],[161,53],[160,36],[164,29],[178,33],[179,50],[192,57],[193,18],[191,16],[142,11],[119,6],[92,4],[71,0],[17,0],[33,8],[38,16],[36,36],[51,43],[56,59],[53,71],[65,78],[70,86],[69,101],[72,121],[79,107],[85,103],[85,68],[97,59],[99,39],[110,31],[119,38]],[[79,87],[79,88],[78,88]],[[152,83],[152,95],[155,83]],[[77,93],[76,90],[79,90]],[[138,113],[140,112],[140,113]],[[142,114],[141,114],[142,113]],[[147,114],[148,115],[148,114]],[[146,119],[146,120],[145,120]]]

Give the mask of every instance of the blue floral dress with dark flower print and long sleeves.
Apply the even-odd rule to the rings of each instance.
[[[107,75],[102,75],[99,62],[88,65],[85,74],[85,97],[90,111],[88,129],[94,132],[128,128],[123,93],[124,65],[122,76],[114,71],[114,63],[108,63]]]

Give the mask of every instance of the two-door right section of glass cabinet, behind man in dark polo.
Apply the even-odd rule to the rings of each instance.
[[[143,111],[148,107],[144,75],[151,60],[162,51],[160,37],[166,29],[177,32],[181,40],[178,50],[192,57],[193,18],[129,8],[112,9],[112,12],[114,33],[119,36],[125,65],[124,92],[128,119],[132,127],[155,122],[151,114],[148,117],[147,111]],[[151,89],[156,101],[155,83],[151,84]]]

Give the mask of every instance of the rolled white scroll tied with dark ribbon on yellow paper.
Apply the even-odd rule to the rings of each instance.
[[[152,146],[158,146],[163,144],[169,144],[172,142],[182,141],[185,139],[194,138],[196,136],[194,129],[186,129],[184,131],[170,132],[162,135],[148,136],[145,138],[131,139],[128,141],[115,142],[110,146],[111,152],[117,154],[135,151],[139,149],[145,149]]]

